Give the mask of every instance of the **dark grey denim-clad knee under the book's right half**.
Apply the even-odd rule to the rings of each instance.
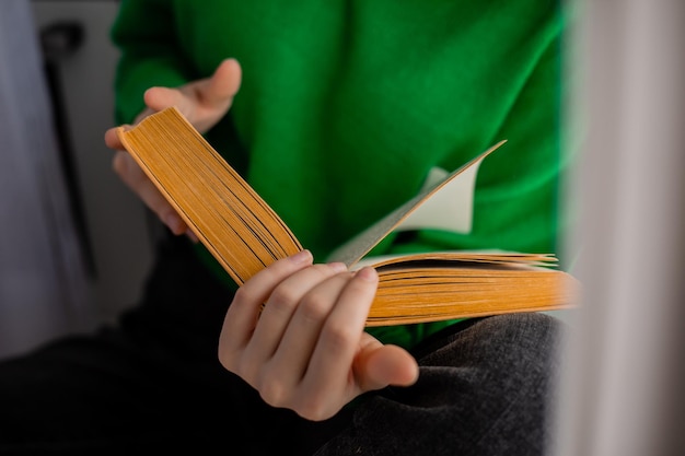
[[[544,314],[446,328],[417,353],[414,386],[371,396],[316,456],[542,455],[554,429],[558,336],[559,321]]]

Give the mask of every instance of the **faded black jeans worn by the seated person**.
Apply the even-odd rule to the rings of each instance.
[[[220,366],[231,293],[185,239],[166,241],[159,257],[142,304],[119,326],[0,363],[0,455],[544,453],[559,364],[554,318],[448,328],[417,348],[416,385],[311,422],[265,405]]]

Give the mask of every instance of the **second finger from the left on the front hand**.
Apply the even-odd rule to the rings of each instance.
[[[303,297],[310,295],[312,290],[318,290],[320,293],[323,293],[324,291],[320,289],[321,283],[325,283],[327,279],[344,270],[347,270],[347,267],[340,262],[313,265],[297,271],[279,283],[264,306],[252,340],[245,348],[245,358],[255,364],[262,364],[271,359],[281,343],[283,334],[291,326],[292,316],[302,306]],[[322,301],[325,301],[325,297],[322,297]],[[318,304],[321,305],[321,303]],[[307,305],[312,304],[309,303]],[[326,305],[329,304],[323,304],[322,307]],[[325,311],[322,309],[322,312]],[[301,353],[295,355],[299,356]],[[309,360],[309,354],[306,358]]]

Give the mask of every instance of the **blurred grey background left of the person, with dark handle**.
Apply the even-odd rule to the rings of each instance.
[[[0,358],[112,318],[149,266],[154,224],[104,144],[117,9],[0,2]]]

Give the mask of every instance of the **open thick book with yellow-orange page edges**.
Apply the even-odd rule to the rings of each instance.
[[[242,284],[303,247],[280,217],[174,107],[118,136],[162,195]],[[503,141],[502,141],[503,142]],[[358,268],[391,231],[448,183],[472,172],[501,143],[425,189],[345,246],[329,260]],[[372,262],[380,277],[368,326],[436,321],[574,304],[578,283],[552,254],[443,252]]]

